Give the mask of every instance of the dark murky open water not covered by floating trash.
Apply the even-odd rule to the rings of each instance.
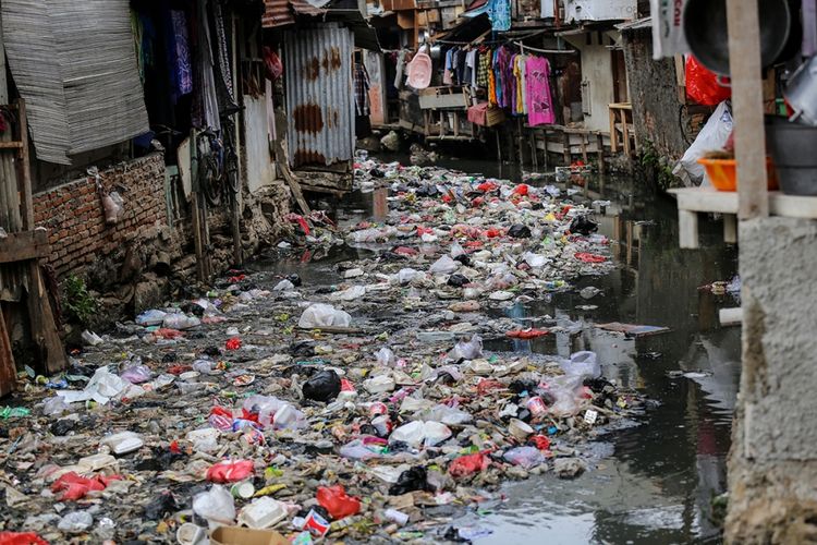
[[[499,175],[496,165],[455,161],[451,166]],[[516,175],[502,172],[505,177]],[[480,544],[492,543],[715,543],[711,498],[725,489],[725,457],[740,374],[740,329],[721,328],[717,311],[736,306],[698,287],[728,280],[736,252],[719,243],[718,226],[702,229],[700,250],[678,247],[671,199],[642,195],[627,179],[589,181],[594,199],[611,201],[598,215],[600,232],[612,239],[620,265],[613,274],[583,278],[576,286],[601,290],[592,300],[575,292],[550,301],[495,311],[521,324],[573,325],[574,334],[535,341],[497,340],[490,351],[569,355],[593,350],[605,375],[656,400],[638,425],[612,431],[588,446],[593,470],[575,481],[553,475],[510,483],[493,499],[454,519],[471,526]],[[353,193],[338,210],[341,223],[382,214],[387,193]],[[333,249],[327,255],[268,261],[258,266],[297,271],[306,280],[331,283],[332,265],[370,256],[365,250]],[[587,305],[595,306],[588,308]],[[583,307],[584,310],[580,310]],[[669,332],[624,339],[588,327],[621,322],[666,326]],[[679,376],[670,372],[694,372]],[[485,531],[483,531],[485,530]]]

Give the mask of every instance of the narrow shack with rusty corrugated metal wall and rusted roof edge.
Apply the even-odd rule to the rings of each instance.
[[[379,52],[366,4],[353,0],[265,2],[265,40],[284,66],[278,138],[291,179],[304,191],[352,187],[355,140],[370,128],[363,50]]]

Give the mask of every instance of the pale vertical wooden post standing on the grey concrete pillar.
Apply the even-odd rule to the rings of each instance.
[[[766,187],[766,132],[760,82],[760,33],[757,0],[727,0],[729,70],[737,162],[737,217],[769,215]]]

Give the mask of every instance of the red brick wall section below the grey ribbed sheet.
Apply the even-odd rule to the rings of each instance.
[[[93,177],[34,195],[35,222],[49,231],[50,263],[60,278],[82,270],[98,255],[111,254],[157,222],[168,222],[161,154],[118,165],[100,174],[103,186],[118,191],[124,199],[124,211],[114,226],[105,223]]]

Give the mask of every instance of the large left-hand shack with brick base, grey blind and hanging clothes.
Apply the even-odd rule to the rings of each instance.
[[[260,52],[261,10],[214,0],[2,3],[2,135],[12,142],[2,146],[0,227],[22,233],[0,239],[3,364],[13,346],[17,364],[54,372],[63,352],[42,331],[56,332],[61,317],[102,320],[156,303],[171,283],[241,263],[285,215],[261,114],[275,77]],[[72,275],[100,294],[93,315],[60,316],[56,286]],[[41,300],[31,322],[42,308],[50,328],[15,311],[26,292]],[[38,351],[26,348],[29,329]]]

